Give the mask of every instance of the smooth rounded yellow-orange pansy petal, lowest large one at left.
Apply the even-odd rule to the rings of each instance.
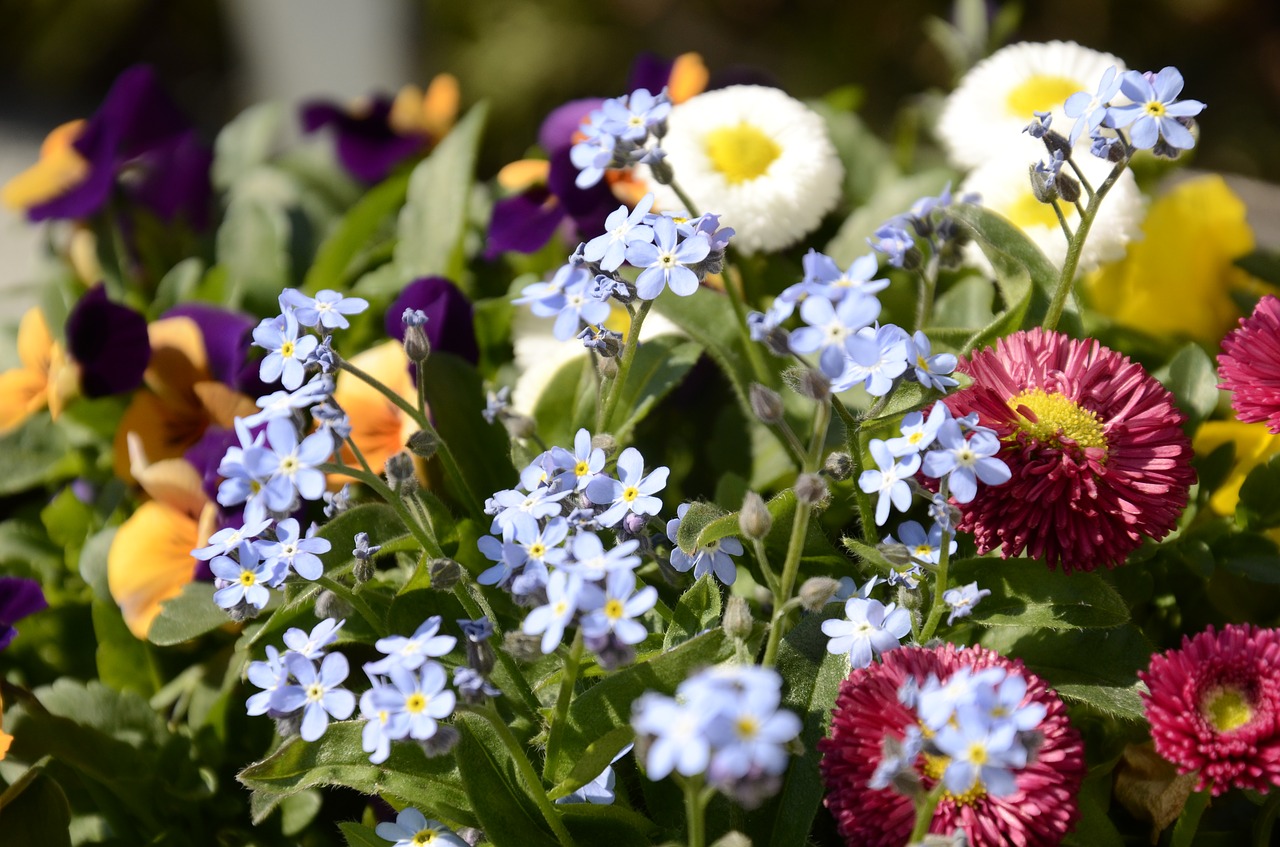
[[[191,551],[198,542],[196,521],[159,500],[143,503],[120,525],[106,555],[106,585],[138,638],[147,637],[160,604],[195,577]]]

